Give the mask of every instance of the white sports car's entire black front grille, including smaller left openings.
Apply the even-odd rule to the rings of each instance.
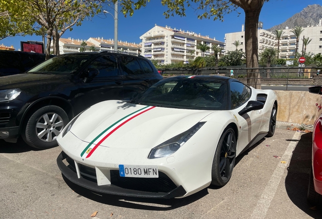
[[[76,172],[75,164],[69,157],[66,161],[72,167],[71,169]],[[88,167],[78,163],[78,168],[81,171],[82,177],[97,182],[95,168]],[[168,193],[176,189],[177,186],[174,182],[163,172],[158,172],[158,178],[134,178],[134,177],[121,177],[118,170],[110,170],[111,185],[136,191],[143,192],[164,192]]]

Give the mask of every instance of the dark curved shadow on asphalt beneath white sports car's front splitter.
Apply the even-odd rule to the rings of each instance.
[[[91,199],[102,204],[108,204],[117,207],[165,211],[188,205],[208,195],[207,188],[182,199],[153,199],[107,195],[93,193],[90,190],[86,190],[83,187],[73,184],[73,182],[69,181],[64,175],[62,176],[66,184],[70,187],[70,189],[72,189],[78,195],[81,195],[85,198]]]

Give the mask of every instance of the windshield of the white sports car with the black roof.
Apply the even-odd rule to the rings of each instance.
[[[160,107],[224,110],[227,84],[209,78],[169,78],[147,89],[134,103]]]

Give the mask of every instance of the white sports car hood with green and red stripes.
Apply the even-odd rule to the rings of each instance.
[[[151,149],[188,130],[213,112],[109,100],[83,112],[70,131],[89,144],[109,148]]]

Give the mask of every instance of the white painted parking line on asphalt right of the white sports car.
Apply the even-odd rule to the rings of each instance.
[[[280,159],[280,161],[286,161],[286,163],[278,163],[276,169],[274,170],[272,176],[268,181],[268,184],[265,187],[264,192],[262,193],[260,199],[257,202],[257,205],[252,213],[251,218],[265,218],[270,203],[273,200],[274,195],[276,193],[281,177],[283,176],[285,169],[288,167],[290,163],[293,151],[295,150],[295,147],[298,142],[297,140],[299,140],[300,136],[301,132],[295,132],[295,134],[293,135],[292,140],[295,141],[291,141],[289,143],[288,148],[286,149],[286,151]]]

